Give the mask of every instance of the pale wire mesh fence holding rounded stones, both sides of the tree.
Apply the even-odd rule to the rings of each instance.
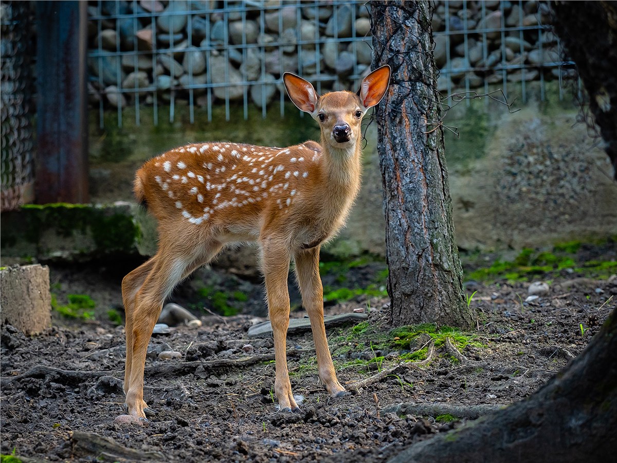
[[[545,1],[434,4],[439,90],[527,98],[528,82],[571,77],[550,31]],[[89,6],[89,93],[104,125],[111,109],[139,124],[144,106],[173,122],[178,112],[212,119],[213,105],[284,114],[281,75],[299,73],[318,92],[356,90],[371,63],[370,2],[97,1]],[[561,88],[561,87],[560,87]],[[278,103],[278,104],[277,104]],[[126,114],[129,114],[128,112]],[[150,116],[148,116],[150,117]]]

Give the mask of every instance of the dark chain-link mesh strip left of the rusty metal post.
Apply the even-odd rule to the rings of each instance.
[[[0,83],[2,211],[19,208],[34,198],[33,130],[31,124],[30,5],[0,4],[2,76]]]

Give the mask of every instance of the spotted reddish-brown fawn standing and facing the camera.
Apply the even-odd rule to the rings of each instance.
[[[320,380],[332,396],[345,393],[336,379],[323,324],[319,251],[343,225],[358,193],[360,123],[381,101],[389,80],[386,65],[366,76],[358,93],[318,96],[308,81],[286,72],[289,97],[318,121],[320,143],[289,148],[188,144],[150,159],[138,170],[135,196],[158,220],[159,247],[154,257],[122,280],[129,414],[141,419],[154,414],[143,399],[144,363],[165,298],[225,244],[237,241],[257,241],[260,246],[280,409],[298,408],[286,359],[291,259],[310,317]]]

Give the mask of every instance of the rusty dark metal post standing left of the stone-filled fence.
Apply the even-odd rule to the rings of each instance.
[[[88,2],[36,2],[36,202],[88,202]]]

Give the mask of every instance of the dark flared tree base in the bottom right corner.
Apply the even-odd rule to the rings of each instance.
[[[388,463],[612,461],[617,449],[617,311],[529,398],[415,444]]]

